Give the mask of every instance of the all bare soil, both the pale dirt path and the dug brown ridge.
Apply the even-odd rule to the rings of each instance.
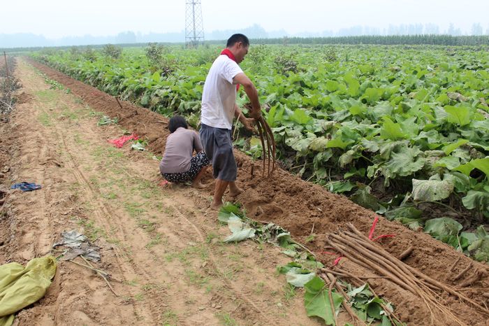
[[[0,262],[24,262],[44,255],[59,232],[78,224],[85,231],[96,233],[97,241],[105,248],[102,267],[124,279],[124,283],[115,283],[115,291],[121,293],[116,298],[89,271],[69,262],[61,263],[52,290],[39,304],[20,313],[21,322],[44,318],[47,323],[67,323],[74,318],[75,324],[154,323],[161,322],[162,316],[173,316],[178,325],[214,325],[224,318],[219,313],[227,311],[245,325],[316,323],[305,316],[302,295],[296,296],[300,300],[288,304],[284,300],[274,304],[277,302],[274,291],[283,289],[285,282],[273,271],[277,264],[286,261],[277,250],[257,250],[254,243],[233,247],[207,241],[227,233],[217,225],[216,214],[207,209],[213,191],[210,173],[204,180],[209,183],[205,190],[160,189],[155,187],[160,180],[158,162],[151,160],[151,155],[115,150],[105,143],[105,139],[120,136],[122,128],[147,139],[149,150],[161,155],[168,136],[166,118],[128,102],[122,102],[120,108],[113,97],[94,87],[42,64],[31,64],[68,87],[75,96],[47,90],[42,78],[25,62],[18,65],[24,92],[34,95],[34,99],[18,106],[7,126],[9,134],[14,135],[11,142],[5,141],[10,150],[7,155],[12,156],[8,178],[28,179],[46,187],[10,197],[8,215],[0,225],[1,239],[6,239],[6,244],[0,247]],[[48,101],[52,92],[56,99]],[[96,127],[96,118],[91,115],[98,111],[117,117],[119,126]],[[323,250],[326,234],[344,228],[348,222],[368,233],[376,216],[372,211],[283,170],[262,177],[261,162],[253,162],[238,151],[235,155],[238,185],[245,192],[233,200],[245,206],[250,218],[275,222],[299,241],[316,234],[314,241],[307,243],[315,253]],[[91,222],[87,221],[94,221],[96,227],[89,227]],[[152,227],[148,229],[147,225]],[[379,234],[395,234],[394,238],[379,241],[394,256],[414,245],[414,252],[404,262],[455,288],[471,277],[473,271],[481,271],[481,278],[462,291],[481,305],[489,304],[487,265],[473,262],[428,234],[411,231],[382,217],[376,229],[376,235]],[[156,244],[149,246],[153,241]],[[197,243],[207,255],[192,249],[195,246],[190,242]],[[170,258],[184,250],[198,253],[189,254],[187,260],[180,256]],[[241,268],[246,266],[246,271],[233,267],[234,260],[226,258],[229,250],[235,250],[243,262]],[[318,257],[327,266],[335,259],[330,255]],[[472,269],[454,280],[469,264]],[[358,276],[374,274],[346,259],[341,260],[340,267]],[[201,277],[189,274],[189,268]],[[228,277],[230,269],[235,278]],[[257,282],[264,283],[267,290],[256,291]],[[448,318],[431,320],[429,309],[418,297],[388,279],[375,278],[370,284],[377,294],[393,302],[398,316],[410,325],[454,324]],[[209,293],[207,285],[213,285]],[[446,293],[437,295],[467,325],[489,325],[488,316],[479,309]],[[211,302],[222,302],[220,309],[212,307]]]

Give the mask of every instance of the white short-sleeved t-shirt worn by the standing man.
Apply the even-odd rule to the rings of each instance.
[[[227,55],[219,55],[205,78],[200,121],[214,128],[233,127],[236,85],[233,78],[242,69]]]

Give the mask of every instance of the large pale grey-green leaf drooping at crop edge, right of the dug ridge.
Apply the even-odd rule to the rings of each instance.
[[[450,178],[440,180],[439,175],[430,180],[413,179],[413,199],[423,201],[439,201],[446,199],[453,192],[454,183]]]

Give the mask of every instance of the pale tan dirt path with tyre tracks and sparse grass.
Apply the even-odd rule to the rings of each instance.
[[[50,253],[64,230],[80,229],[101,247],[98,268],[113,281],[59,262],[45,297],[19,325],[319,325],[277,265],[278,248],[226,245],[229,232],[209,213],[207,194],[158,185],[148,153],[112,147],[117,125],[97,126],[96,108],[50,89],[20,60],[22,101],[2,125],[0,182],[43,185],[14,192],[0,218],[0,264]],[[6,135],[6,137],[3,137]]]

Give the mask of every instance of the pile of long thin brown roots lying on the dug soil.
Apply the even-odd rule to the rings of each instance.
[[[486,307],[481,306],[469,297],[462,295],[455,288],[450,285],[446,285],[436,281],[430,276],[427,276],[414,267],[410,267],[404,262],[397,259],[384,248],[377,245],[374,241],[363,235],[356,227],[351,223],[347,225],[347,230],[340,230],[337,234],[328,234],[327,243],[328,248],[332,248],[340,253],[343,257],[351,260],[352,262],[373,271],[377,274],[376,277],[368,278],[387,278],[400,288],[407,290],[421,299],[425,304],[428,311],[430,311],[432,325],[439,325],[442,320],[451,320],[453,323],[459,325],[466,325],[462,320],[455,316],[455,313],[451,311],[447,306],[442,304],[440,292],[446,292],[454,297],[458,297],[463,302],[474,306],[480,313],[489,317],[489,310]],[[351,317],[360,323],[365,325],[362,320],[356,317],[356,314],[351,311],[348,302],[348,297],[345,295],[342,285],[337,282],[338,278],[348,278],[351,283],[356,286],[364,284],[363,281],[367,277],[355,276],[348,271],[332,267],[330,269],[321,269],[321,277],[330,284],[330,290],[336,288],[337,291],[345,298],[344,308],[351,315]],[[372,290],[372,288],[370,288]],[[374,294],[375,295],[375,294]],[[383,307],[384,311],[388,312],[389,309]],[[389,313],[388,318],[400,321],[393,313]]]

